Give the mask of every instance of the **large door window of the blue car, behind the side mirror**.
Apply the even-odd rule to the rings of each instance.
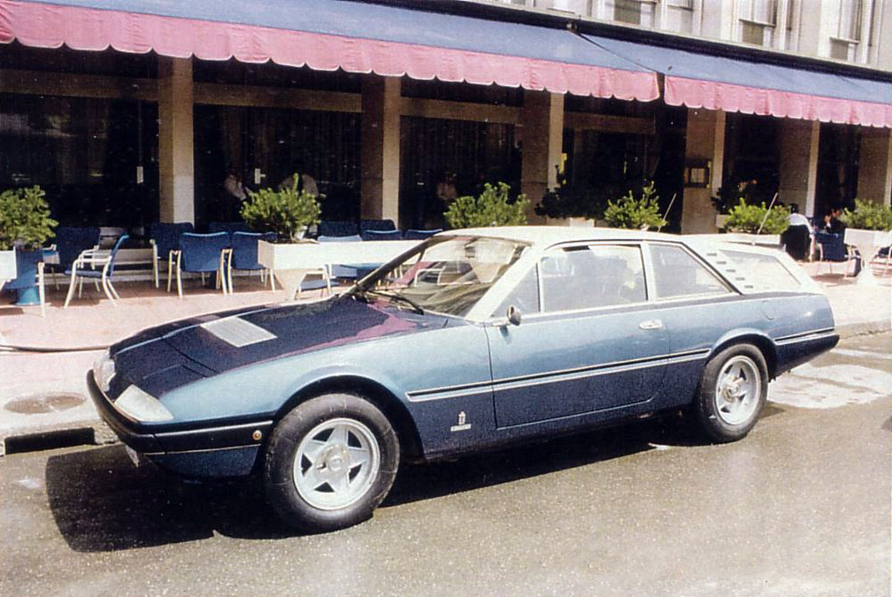
[[[547,312],[613,307],[648,299],[641,250],[592,245],[542,258],[542,302]]]

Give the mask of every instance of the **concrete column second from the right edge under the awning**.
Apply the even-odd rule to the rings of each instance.
[[[814,216],[818,180],[817,120],[780,119],[780,188],[778,200],[796,203],[805,216]]]

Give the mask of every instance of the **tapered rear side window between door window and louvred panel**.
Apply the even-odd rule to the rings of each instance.
[[[657,299],[725,294],[724,283],[681,247],[650,245]]]

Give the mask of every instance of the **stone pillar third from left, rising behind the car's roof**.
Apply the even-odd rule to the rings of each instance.
[[[530,200],[530,222],[541,221],[533,207],[558,185],[558,166],[564,140],[564,95],[524,91],[521,115],[521,192]]]

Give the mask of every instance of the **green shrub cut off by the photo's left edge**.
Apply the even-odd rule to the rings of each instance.
[[[37,184],[0,193],[0,249],[39,249],[55,236],[46,193]]]

